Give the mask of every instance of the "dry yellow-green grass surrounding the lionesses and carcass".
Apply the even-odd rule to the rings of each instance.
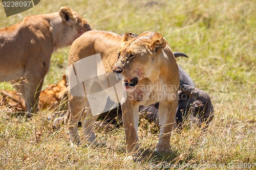
[[[95,30],[162,34],[173,51],[189,56],[178,58],[178,64],[210,94],[215,117],[206,131],[193,125],[173,131],[174,154],[167,156],[154,155],[158,136],[143,122],[139,139],[144,159],[124,162],[122,127],[97,131],[106,148],[71,148],[66,127],[53,130],[47,120],[52,111],[27,119],[0,109],[0,169],[158,169],[161,164],[178,169],[256,169],[255,1],[42,0],[10,17],[0,5],[0,26],[11,26],[27,15],[56,12],[61,6],[83,15]],[[68,52],[66,47],[52,55],[45,85],[61,79]],[[0,88],[11,86],[0,83]],[[187,166],[177,166],[182,164]]]

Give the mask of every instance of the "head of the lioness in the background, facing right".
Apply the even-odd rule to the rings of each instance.
[[[88,21],[69,7],[61,7],[59,15],[62,20],[62,27],[58,27],[57,32],[55,32],[55,35],[61,38],[58,47],[71,45],[76,38],[91,30]]]

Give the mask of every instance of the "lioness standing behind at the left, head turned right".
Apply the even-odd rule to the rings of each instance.
[[[0,82],[19,82],[15,88],[23,94],[25,111],[35,111],[52,53],[89,30],[87,20],[69,7],[0,29]]]

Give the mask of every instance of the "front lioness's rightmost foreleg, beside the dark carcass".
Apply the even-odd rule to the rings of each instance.
[[[178,100],[175,100],[172,103],[159,103],[159,124],[161,130],[156,152],[170,151],[170,134],[175,123],[177,105]]]

